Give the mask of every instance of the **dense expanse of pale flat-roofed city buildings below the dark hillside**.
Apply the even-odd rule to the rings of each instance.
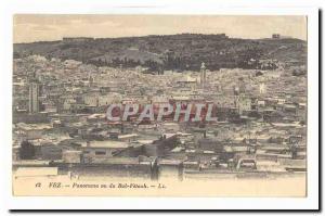
[[[143,69],[15,59],[14,170],[150,179],[306,171],[307,76],[204,63],[198,72]],[[109,122],[114,103],[212,103],[218,120]]]

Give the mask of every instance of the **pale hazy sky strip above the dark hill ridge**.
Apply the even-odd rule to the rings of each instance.
[[[14,42],[62,37],[128,37],[181,33],[266,38],[273,33],[307,39],[304,16],[214,15],[15,15]]]

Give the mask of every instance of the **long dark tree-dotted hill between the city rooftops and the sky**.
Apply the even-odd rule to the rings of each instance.
[[[60,41],[15,43],[14,58],[40,54],[98,66],[145,66],[152,71],[258,68],[260,60],[288,64],[307,62],[307,42],[294,38],[238,39],[224,34],[180,34],[126,38],[63,38]]]

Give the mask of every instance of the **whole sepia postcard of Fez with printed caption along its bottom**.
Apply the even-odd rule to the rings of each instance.
[[[13,195],[307,196],[308,17],[15,14]]]

